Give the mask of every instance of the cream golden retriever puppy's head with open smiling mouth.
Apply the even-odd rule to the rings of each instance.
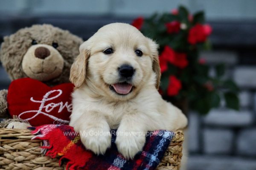
[[[86,83],[101,96],[127,100],[146,86],[158,88],[157,44],[124,23],[103,26],[80,48],[70,71],[76,88]]]

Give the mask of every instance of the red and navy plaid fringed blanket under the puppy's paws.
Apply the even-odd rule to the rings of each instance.
[[[104,156],[96,156],[86,150],[80,136],[68,125],[43,125],[30,127],[36,136],[33,139],[44,140],[46,156],[61,156],[59,164],[67,161],[70,170],[154,170],[160,163],[173,132],[155,130],[146,136],[143,151],[137,153],[133,160],[125,159],[118,153],[115,145],[115,133],[112,133],[111,148]],[[115,131],[114,131],[115,132]]]

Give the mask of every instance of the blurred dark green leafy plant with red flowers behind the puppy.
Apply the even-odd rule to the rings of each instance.
[[[199,51],[209,48],[211,26],[204,23],[204,12],[189,14],[185,7],[171,13],[139,17],[132,23],[144,35],[159,44],[161,68],[160,93],[174,103],[188,101],[189,108],[208,113],[220,105],[239,109],[236,84],[224,78],[224,64],[215,65],[215,76],[209,75],[209,65],[199,59]]]

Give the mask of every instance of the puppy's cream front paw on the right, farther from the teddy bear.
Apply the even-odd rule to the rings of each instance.
[[[142,151],[145,140],[145,135],[119,133],[116,136],[116,147],[126,159],[133,159],[138,152]]]

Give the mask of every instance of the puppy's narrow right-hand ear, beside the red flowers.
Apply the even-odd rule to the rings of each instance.
[[[156,88],[159,88],[160,85],[160,78],[161,78],[161,70],[159,65],[159,58],[158,58],[158,45],[156,42],[148,38],[148,44],[151,50],[151,56],[153,57],[153,71],[156,74]]]

